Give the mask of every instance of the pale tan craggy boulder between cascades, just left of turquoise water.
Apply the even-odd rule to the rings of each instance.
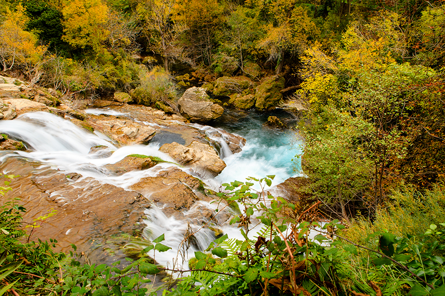
[[[196,141],[187,147],[176,142],[164,144],[159,151],[169,154],[179,164],[190,166],[201,176],[209,172],[215,177],[225,168],[214,148]]]

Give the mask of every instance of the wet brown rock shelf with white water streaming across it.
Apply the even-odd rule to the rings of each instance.
[[[241,151],[245,144],[242,137],[191,124],[183,116],[146,106],[104,100],[88,104],[64,101],[50,89],[29,87],[23,81],[2,76],[0,98],[0,133],[4,135],[0,139],[0,171],[16,175],[10,185],[12,191],[2,198],[3,202],[20,198],[18,203],[27,209],[25,223],[33,223],[50,209],[56,211],[42,227],[33,230],[31,239],[54,238],[58,250],[63,251],[75,244],[93,259],[103,261],[104,254],[110,250],[119,254],[119,247],[142,234],[150,208],[162,209],[167,217],[189,224],[210,227],[215,235],[218,226],[230,218],[225,201],[219,201],[224,208],[219,212],[214,206],[203,206],[218,197],[212,190],[215,188],[202,180],[221,173],[225,167],[223,155]],[[74,110],[74,105],[82,108]],[[7,122],[18,121],[53,128],[54,137],[72,132],[80,137],[74,142],[90,135],[110,144],[73,154],[69,165],[59,166],[50,157],[36,156],[39,148],[12,132],[12,124]],[[67,121],[77,127],[65,127]],[[32,134],[33,130],[28,132]],[[44,132],[41,138],[45,136]],[[51,145],[50,140],[42,140]],[[130,152],[147,145],[160,156]],[[81,160],[77,158],[92,162],[79,165]],[[109,181],[119,176],[135,181]]]

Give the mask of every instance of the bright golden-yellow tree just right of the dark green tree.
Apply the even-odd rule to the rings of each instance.
[[[62,9],[63,40],[76,48],[90,46],[97,52],[109,32],[106,30],[108,7],[101,0],[71,0]]]

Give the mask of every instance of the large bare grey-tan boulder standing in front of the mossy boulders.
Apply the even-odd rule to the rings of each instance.
[[[188,88],[178,100],[182,116],[192,122],[207,122],[220,117],[224,109],[210,101],[209,95],[202,87]]]

